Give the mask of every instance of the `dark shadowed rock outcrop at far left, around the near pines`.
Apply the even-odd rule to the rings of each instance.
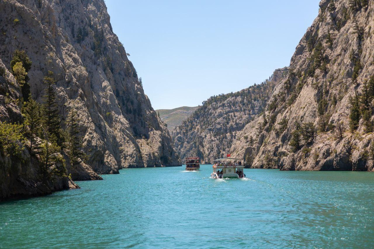
[[[0,59],[0,122],[22,121],[19,98],[19,85]],[[13,197],[42,196],[78,187],[68,177],[41,181],[38,170],[39,161],[31,157],[27,149],[23,149],[18,156],[7,156],[0,152],[0,201]]]

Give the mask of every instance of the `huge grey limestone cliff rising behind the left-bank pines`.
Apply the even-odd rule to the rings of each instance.
[[[32,96],[40,101],[42,79],[52,71],[61,115],[77,109],[95,172],[180,165],[168,129],[112,32],[104,0],[1,0],[0,23],[6,67],[14,50],[25,50],[33,61]]]

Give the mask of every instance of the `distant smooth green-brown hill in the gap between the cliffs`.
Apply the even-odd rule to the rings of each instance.
[[[160,109],[156,110],[160,113],[161,120],[168,125],[169,131],[173,131],[178,125],[182,125],[198,107],[178,107],[174,109]]]

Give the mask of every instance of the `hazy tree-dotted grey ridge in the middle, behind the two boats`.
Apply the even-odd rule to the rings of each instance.
[[[199,156],[203,163],[211,163],[228,153],[237,134],[264,111],[273,89],[287,72],[287,68],[276,70],[260,85],[205,101],[175,129],[174,146],[181,158]]]

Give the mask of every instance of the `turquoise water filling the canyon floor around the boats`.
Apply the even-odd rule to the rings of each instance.
[[[373,248],[374,174],[125,169],[0,204],[0,248]]]

